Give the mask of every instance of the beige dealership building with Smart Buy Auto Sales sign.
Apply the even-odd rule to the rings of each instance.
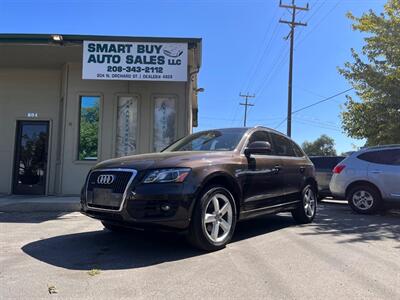
[[[0,35],[0,194],[77,195],[197,125],[201,40]]]

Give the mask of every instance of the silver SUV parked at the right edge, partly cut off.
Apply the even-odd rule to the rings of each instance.
[[[354,152],[333,169],[329,188],[357,213],[377,212],[384,202],[400,204],[400,145]]]

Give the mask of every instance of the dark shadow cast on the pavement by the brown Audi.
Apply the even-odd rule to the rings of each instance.
[[[292,226],[289,216],[266,216],[238,223],[233,243]],[[60,235],[34,241],[22,250],[45,263],[72,270],[142,268],[204,255],[183,235],[167,232],[108,230]]]

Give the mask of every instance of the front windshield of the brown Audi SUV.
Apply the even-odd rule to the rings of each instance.
[[[165,148],[163,152],[232,151],[245,132],[245,128],[202,131],[180,139]]]

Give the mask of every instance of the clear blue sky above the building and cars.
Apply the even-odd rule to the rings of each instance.
[[[360,50],[363,36],[345,15],[381,12],[385,2],[296,0],[310,10],[296,16],[307,26],[295,32],[294,111],[351,88],[337,68],[352,61],[350,49]],[[289,27],[278,21],[289,17],[279,0],[0,0],[1,33],[202,38],[196,131],[243,126],[239,94],[249,93],[247,125],[286,133]],[[292,138],[301,144],[327,134],[338,153],[362,146],[341,128],[345,95],[294,114]]]

